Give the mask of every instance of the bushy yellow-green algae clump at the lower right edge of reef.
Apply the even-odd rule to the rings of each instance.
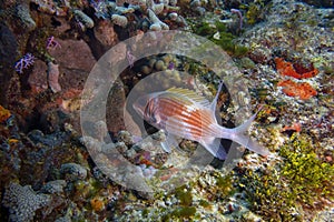
[[[315,151],[310,138],[297,134],[279,150],[285,159],[282,175],[296,200],[311,206],[322,196],[334,198],[334,167],[320,160]]]

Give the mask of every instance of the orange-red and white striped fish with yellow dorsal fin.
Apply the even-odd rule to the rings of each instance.
[[[179,137],[197,141],[220,160],[227,157],[220,139],[235,141],[261,155],[268,155],[266,148],[245,135],[256,114],[234,129],[218,124],[215,113],[222,87],[223,82],[212,102],[195,91],[171,88],[139,97],[134,109],[149,124],[166,132],[167,139],[161,144],[166,152],[170,152],[173,145],[178,147],[175,137]]]

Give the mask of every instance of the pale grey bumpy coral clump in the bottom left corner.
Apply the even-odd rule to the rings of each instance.
[[[35,212],[48,205],[51,198],[47,194],[37,194],[30,185],[21,186],[10,183],[3,195],[3,205],[9,210],[9,221],[32,221]]]

